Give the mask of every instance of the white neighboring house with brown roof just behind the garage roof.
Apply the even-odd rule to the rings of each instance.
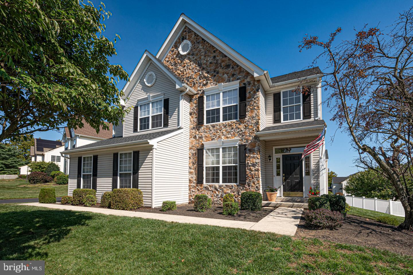
[[[64,127],[62,141],[64,142],[64,150],[73,149],[79,146],[94,143],[96,141],[102,141],[104,139],[110,139],[113,136],[112,123],[105,122],[109,126],[109,130],[104,130],[102,126],[99,129],[99,133],[91,127],[85,120],[83,122],[83,128],[71,128]],[[62,155],[64,158],[64,174],[69,174],[69,158]]]

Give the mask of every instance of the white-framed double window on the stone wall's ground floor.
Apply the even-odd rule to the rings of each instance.
[[[205,183],[238,183],[238,146],[205,148]]]

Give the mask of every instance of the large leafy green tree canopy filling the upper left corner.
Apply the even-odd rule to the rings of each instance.
[[[0,2],[0,141],[37,131],[99,131],[123,117],[116,88],[128,74],[109,63],[114,40],[103,35],[111,15],[83,0]]]

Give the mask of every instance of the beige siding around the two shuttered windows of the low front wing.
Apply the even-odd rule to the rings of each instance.
[[[125,151],[139,151],[139,189],[143,193],[144,206],[151,207],[152,199],[152,149],[123,148],[106,150],[104,152],[84,153],[83,155],[98,155],[97,157],[97,190],[96,198],[100,199],[104,192],[112,191],[113,153]],[[71,155],[69,169],[69,196],[77,185],[77,162],[79,155]]]

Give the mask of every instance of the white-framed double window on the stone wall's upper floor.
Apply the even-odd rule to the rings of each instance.
[[[238,119],[238,88],[223,90],[205,96],[205,123]]]

